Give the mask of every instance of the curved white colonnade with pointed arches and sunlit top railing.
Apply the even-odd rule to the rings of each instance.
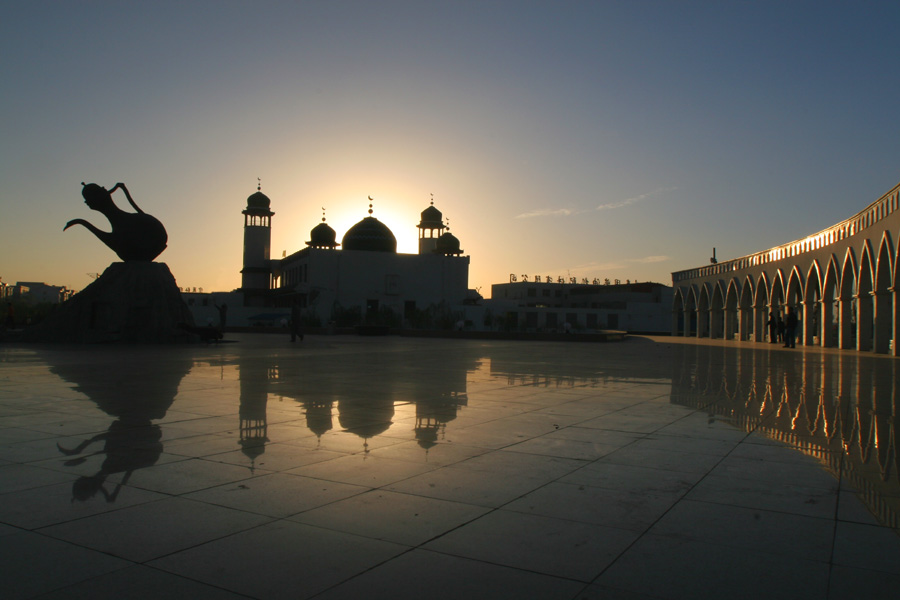
[[[672,334],[769,341],[770,313],[797,343],[900,355],[900,185],[824,231],[672,274]]]

